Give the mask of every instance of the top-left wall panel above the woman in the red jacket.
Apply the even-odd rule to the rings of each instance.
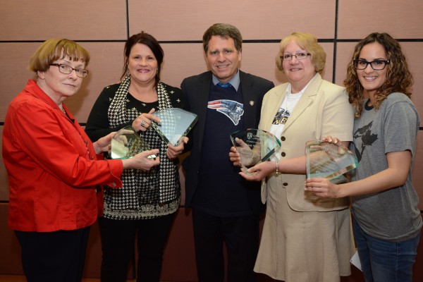
[[[125,3],[125,0],[0,0],[0,39],[126,39]]]

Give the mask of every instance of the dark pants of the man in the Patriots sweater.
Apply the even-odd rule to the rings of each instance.
[[[195,258],[200,282],[224,279],[223,242],[228,254],[228,282],[255,281],[259,216],[217,217],[192,209]]]

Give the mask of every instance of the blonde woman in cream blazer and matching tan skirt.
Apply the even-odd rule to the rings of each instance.
[[[343,87],[321,78],[325,61],[314,35],[294,32],[281,41],[276,63],[288,82],[266,93],[259,123],[281,140],[281,149],[250,168],[252,176],[240,173],[262,180],[266,202],[255,271],[286,282],[337,282],[350,275],[348,198],[305,192],[305,142],[334,135],[348,146],[353,137],[353,109]],[[239,155],[230,156],[239,165]]]

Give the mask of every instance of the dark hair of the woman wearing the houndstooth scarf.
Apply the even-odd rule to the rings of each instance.
[[[128,61],[129,61],[130,50],[137,43],[147,45],[147,47],[149,47],[149,49],[152,50],[154,56],[157,59],[157,73],[156,73],[155,85],[154,85],[155,87],[157,87],[157,83],[159,83],[160,81],[161,63],[163,63],[164,51],[163,49],[161,49],[161,46],[159,42],[157,41],[157,39],[155,39],[152,35],[149,35],[148,33],[143,31],[129,37],[129,39],[126,40],[125,49],[123,51],[125,54],[125,58],[123,59],[123,73],[121,76],[121,80],[123,80],[123,78],[125,78],[125,76],[128,75],[127,72],[128,72]]]

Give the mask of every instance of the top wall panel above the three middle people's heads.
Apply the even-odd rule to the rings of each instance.
[[[130,34],[151,33],[158,40],[201,40],[214,23],[236,25],[244,39],[281,39],[294,32],[333,38],[335,1],[228,0],[219,2],[129,0]],[[298,7],[300,6],[300,7]],[[286,9],[288,8],[288,12]]]

